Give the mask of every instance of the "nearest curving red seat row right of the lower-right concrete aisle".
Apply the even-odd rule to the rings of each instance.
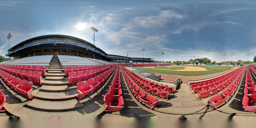
[[[232,93],[236,91],[236,88],[241,81],[245,67],[242,66],[239,69],[239,75],[235,78],[231,85],[229,85],[224,91],[222,91],[222,93],[208,99],[208,103],[212,108],[217,109],[216,106],[221,105],[223,102],[227,102],[226,99],[229,99],[232,96]]]

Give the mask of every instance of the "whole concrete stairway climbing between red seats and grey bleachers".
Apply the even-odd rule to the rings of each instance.
[[[82,107],[76,100],[76,86],[68,86],[68,78],[64,77],[64,67],[57,56],[53,56],[46,68],[46,77],[34,98],[26,105],[41,110],[70,110]]]

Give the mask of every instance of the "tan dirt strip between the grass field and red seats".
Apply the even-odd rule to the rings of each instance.
[[[234,68],[231,68],[230,70],[232,70],[232,69],[234,69]],[[175,81],[176,79],[181,78],[182,83],[187,83],[187,80],[208,78],[208,77],[212,77],[212,76],[216,76],[216,75],[228,72],[230,70],[225,70],[225,71],[218,72],[218,73],[206,74],[206,75],[200,75],[200,76],[179,76],[179,75],[160,74],[160,73],[155,73],[155,76],[161,75],[161,79],[163,79],[164,81]]]

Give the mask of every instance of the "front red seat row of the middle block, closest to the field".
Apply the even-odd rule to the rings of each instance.
[[[125,69],[126,71],[128,71],[127,69]],[[173,87],[169,87],[167,85],[159,85],[157,83],[148,81],[147,79],[144,79],[142,77],[139,77],[138,75],[128,71],[127,72],[129,74],[129,76],[131,78],[127,79],[128,84],[130,85],[130,87],[133,87],[134,85],[132,85],[132,80],[135,81],[135,83],[137,83],[137,85],[139,85],[142,89],[148,91],[149,93],[152,93],[154,95],[156,95],[157,97],[163,97],[166,98],[166,100],[169,97],[170,93],[173,93]]]

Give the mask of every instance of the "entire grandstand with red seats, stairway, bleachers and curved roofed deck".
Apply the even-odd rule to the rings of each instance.
[[[146,58],[148,61],[135,58],[138,61],[129,63],[114,61],[125,56],[106,54],[89,42],[87,47],[79,47],[79,39],[70,36],[64,36],[67,41],[62,41],[77,39],[77,45],[57,43],[59,36],[64,35],[38,36],[8,50],[6,55],[15,59],[0,63],[0,112],[3,115],[66,117],[66,120],[157,119],[157,115],[176,120],[180,115],[188,118],[211,118],[211,115],[229,118],[233,113],[240,118],[256,115],[256,66],[253,64],[188,83],[181,83],[180,79],[159,82],[145,77],[149,73],[136,72],[127,66],[167,63],[157,63],[150,58]],[[45,43],[36,39],[45,39]]]

